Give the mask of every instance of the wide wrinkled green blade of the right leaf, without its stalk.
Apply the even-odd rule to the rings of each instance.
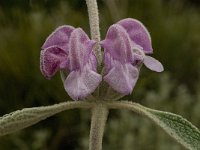
[[[189,121],[173,113],[146,110],[147,116],[179,143],[191,150],[200,149],[200,132]]]

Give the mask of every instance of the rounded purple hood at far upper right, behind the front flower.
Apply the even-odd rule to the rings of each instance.
[[[127,18],[119,21],[117,24],[127,31],[132,42],[140,45],[145,53],[153,53],[150,34],[140,21]]]

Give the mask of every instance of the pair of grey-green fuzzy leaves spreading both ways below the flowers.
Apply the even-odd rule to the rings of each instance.
[[[74,108],[92,108],[96,102],[64,102],[52,106],[25,108],[0,118],[0,136],[31,126],[61,111]],[[127,101],[102,101],[108,109],[128,109],[137,112],[161,127],[172,138],[190,150],[200,149],[200,131],[179,115],[146,108]]]

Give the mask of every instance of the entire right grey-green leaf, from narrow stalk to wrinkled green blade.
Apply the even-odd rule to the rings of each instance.
[[[187,149],[200,150],[200,131],[179,115],[153,110],[137,103],[125,101],[110,103],[110,108],[125,108],[140,113],[151,119]]]

